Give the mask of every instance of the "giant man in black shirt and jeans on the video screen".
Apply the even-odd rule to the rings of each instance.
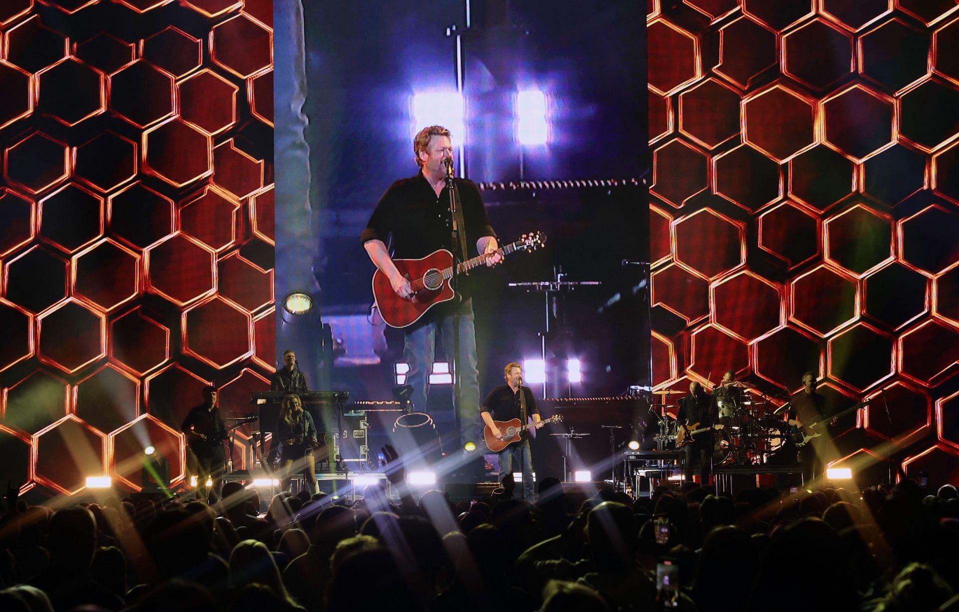
[[[452,243],[453,219],[445,164],[447,161],[452,164],[453,160],[450,130],[440,125],[423,128],[413,139],[413,154],[419,172],[411,178],[396,181],[386,190],[361,237],[369,259],[386,275],[393,290],[403,299],[414,298],[411,297],[409,279],[397,270],[393,258],[421,259],[438,249],[456,254],[463,250]],[[485,261],[492,267],[503,261],[503,255],[496,253],[499,243],[479,189],[472,181],[454,180],[462,212],[460,236],[465,235],[464,242],[469,251],[473,251],[475,245],[476,255],[492,254]],[[391,254],[386,248],[387,237],[392,241]],[[413,388],[410,400],[417,410],[425,410],[429,393],[427,376],[433,367],[436,332],[441,334],[443,351],[449,358],[453,354],[454,314],[458,313],[459,355],[456,364],[461,383],[460,405],[456,406],[456,411],[461,448],[463,442],[474,440],[476,435],[479,371],[469,278],[462,275],[458,282],[459,300],[431,309],[404,329],[403,356],[409,363],[407,384]]]

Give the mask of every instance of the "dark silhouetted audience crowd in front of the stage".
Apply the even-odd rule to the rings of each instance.
[[[459,503],[409,489],[396,501],[380,485],[353,504],[283,492],[260,517],[240,483],[213,506],[108,495],[56,511],[11,487],[0,609],[959,610],[950,485],[731,497],[687,484],[639,500],[538,488],[536,504],[512,487]]]

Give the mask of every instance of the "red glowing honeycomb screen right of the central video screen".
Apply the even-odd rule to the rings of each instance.
[[[837,464],[959,481],[959,5],[707,4],[647,3],[654,387],[812,371]]]

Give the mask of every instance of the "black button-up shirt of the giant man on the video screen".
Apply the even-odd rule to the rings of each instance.
[[[489,223],[476,183],[465,178],[455,180],[466,224],[467,257],[476,257],[479,255],[477,240],[485,236],[495,238],[496,232]],[[369,240],[386,243],[390,236],[392,257],[397,260],[418,260],[439,249],[456,255],[449,190],[444,187],[437,196],[423,172],[393,183],[369,217],[361,239],[364,243]],[[468,278],[463,276],[459,280],[459,292],[464,298],[470,295],[469,283],[464,282]]]

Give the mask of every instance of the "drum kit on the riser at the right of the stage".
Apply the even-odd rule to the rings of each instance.
[[[713,431],[713,465],[762,465],[781,448],[788,429],[782,416],[774,414],[776,405],[765,395],[750,393],[756,386],[736,381],[727,387],[727,393],[714,396],[716,424],[722,429]],[[669,410],[678,410],[678,401],[686,392],[667,389],[653,392],[659,403],[651,404],[650,411],[659,418],[659,431],[653,436],[656,448],[672,450],[676,447],[678,422]]]

